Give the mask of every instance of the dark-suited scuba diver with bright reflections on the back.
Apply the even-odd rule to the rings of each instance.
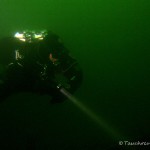
[[[53,103],[74,93],[82,71],[59,36],[51,31],[23,31],[0,41],[0,100],[18,92],[49,94]]]

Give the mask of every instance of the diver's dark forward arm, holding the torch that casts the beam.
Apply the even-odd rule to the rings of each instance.
[[[67,99],[60,89],[64,88],[70,93],[74,93],[80,86],[83,80],[82,70],[77,62],[70,63],[70,65],[64,70],[55,74],[53,77],[49,77],[49,94],[52,96],[52,103],[63,102]],[[60,88],[61,87],[61,88]]]

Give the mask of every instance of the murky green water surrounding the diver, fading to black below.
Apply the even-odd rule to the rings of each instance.
[[[123,149],[119,141],[150,142],[149,16],[148,0],[1,0],[1,38],[48,29],[63,39],[83,70],[75,97],[87,109],[13,95],[0,104],[0,147],[106,150]]]

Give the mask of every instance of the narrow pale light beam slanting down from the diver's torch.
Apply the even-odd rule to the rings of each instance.
[[[122,139],[117,131],[115,131],[112,127],[110,127],[102,118],[96,115],[92,110],[86,107],[84,104],[79,102],[71,93],[69,93],[66,89],[60,88],[60,92],[65,95],[71,102],[73,102],[78,108],[80,108],[85,114],[87,114],[91,119],[97,122],[101,128],[103,128],[111,137],[114,139]]]

